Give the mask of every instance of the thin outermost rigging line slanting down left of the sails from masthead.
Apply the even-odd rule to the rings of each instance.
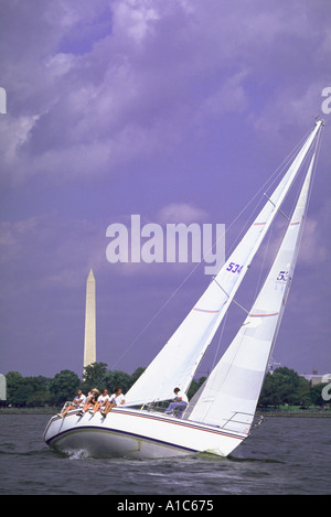
[[[237,216],[234,218],[234,220],[229,224],[229,226],[226,228],[226,230],[222,234],[222,236],[216,240],[216,243],[212,246],[211,250],[214,249],[215,245],[221,240],[221,238],[224,237],[224,235],[235,225],[235,223],[237,222],[237,219],[242,216],[242,214],[246,211],[246,208],[254,202],[254,200],[260,194],[260,192],[265,189],[265,186],[267,185],[267,183],[273,179],[273,176],[275,176],[277,174],[276,177],[279,176],[279,174],[281,173],[280,171],[282,170],[282,168],[285,168],[285,164],[289,162],[289,160],[291,159],[291,155],[295,155],[295,153],[297,152],[297,150],[299,149],[299,147],[302,144],[302,142],[305,141],[305,139],[307,138],[307,136],[310,133],[310,131],[307,132],[307,134],[299,141],[299,143],[290,151],[290,153],[285,158],[285,160],[282,160],[282,162],[280,163],[280,165],[278,165],[278,168],[276,169],[276,171],[271,174],[271,176],[261,185],[261,187],[259,189],[259,191],[253,196],[253,198],[245,205],[245,207],[237,214]],[[278,172],[279,171],[279,172]],[[274,179],[273,183],[275,183],[276,179]],[[273,184],[271,183],[271,184]],[[210,251],[211,251],[210,250]],[[121,354],[121,356],[119,356],[116,360],[116,363],[114,364],[114,366],[116,366],[120,359],[122,359],[122,357],[132,348],[132,346],[137,343],[137,341],[139,340],[139,337],[147,331],[147,328],[149,328],[149,326],[152,324],[152,322],[159,316],[159,314],[163,311],[163,309],[168,305],[168,303],[172,300],[172,298],[180,291],[180,289],[186,283],[186,281],[189,280],[189,278],[191,278],[191,276],[196,271],[196,269],[199,267],[202,266],[202,261],[201,262],[197,262],[196,266],[194,266],[191,271],[186,274],[186,277],[183,279],[183,281],[179,284],[179,287],[172,292],[172,294],[168,298],[168,300],[166,300],[166,302],[161,305],[161,308],[156,312],[156,314],[151,317],[151,320],[143,326],[143,328],[140,331],[140,333],[135,337],[135,340],[130,343],[130,345],[128,346],[128,348]]]

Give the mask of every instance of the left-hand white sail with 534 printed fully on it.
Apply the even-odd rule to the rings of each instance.
[[[250,262],[292,185],[322,122],[318,121],[287,173],[226,263],[210,283],[179,328],[126,394],[126,405],[137,406],[173,397],[173,388],[186,391]]]

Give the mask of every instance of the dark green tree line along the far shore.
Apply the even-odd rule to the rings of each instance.
[[[143,367],[139,367],[129,375],[121,370],[107,369],[105,363],[94,363],[85,368],[82,379],[67,369],[60,371],[54,378],[41,375],[23,377],[18,371],[9,371],[6,375],[7,400],[0,401],[0,412],[53,413],[66,400],[73,400],[77,389],[86,395],[93,388],[113,391],[115,386],[120,386],[126,394],[143,370]],[[188,392],[189,400],[204,380],[205,377],[200,377],[192,381]],[[325,384],[312,386],[293,369],[279,367],[265,377],[257,412],[268,416],[331,416],[330,400],[323,398],[324,387]]]

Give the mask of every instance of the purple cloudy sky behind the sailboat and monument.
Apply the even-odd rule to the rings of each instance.
[[[323,116],[274,359],[330,373],[330,1],[1,0],[0,25],[0,371],[82,374],[90,268],[97,360],[147,366],[211,277],[190,260],[110,263],[109,225],[244,224]]]

